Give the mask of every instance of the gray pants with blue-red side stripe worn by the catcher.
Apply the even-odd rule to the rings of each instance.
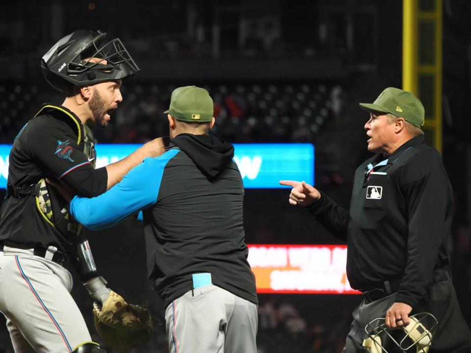
[[[33,250],[4,247],[0,252],[0,311],[6,317],[16,353],[72,352],[90,333],[69,291],[65,268],[33,255]]]

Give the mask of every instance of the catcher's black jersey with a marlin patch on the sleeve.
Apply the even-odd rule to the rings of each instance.
[[[50,177],[62,180],[78,195],[92,197],[105,192],[106,169],[94,169],[95,155],[85,153],[93,150],[87,143],[85,127],[73,112],[45,105],[15,138],[9,156],[10,189],[27,190],[41,178]],[[57,235],[38,210],[34,196],[7,195],[0,211],[0,240],[61,249]]]

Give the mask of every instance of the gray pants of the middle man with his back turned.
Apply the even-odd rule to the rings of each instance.
[[[257,305],[213,284],[165,311],[169,353],[256,353]]]

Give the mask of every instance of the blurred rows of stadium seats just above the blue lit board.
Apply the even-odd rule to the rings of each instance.
[[[204,85],[214,101],[213,133],[232,143],[313,142],[340,114],[342,88],[316,82]],[[126,84],[124,101],[99,143],[143,143],[168,135],[164,110],[175,85]],[[41,101],[43,99],[43,101]],[[0,143],[11,143],[50,97],[33,85],[0,83]],[[57,103],[60,103],[58,99]]]

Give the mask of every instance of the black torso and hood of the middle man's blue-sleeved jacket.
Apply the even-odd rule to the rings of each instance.
[[[244,187],[234,146],[212,135],[180,134],[165,164],[156,204],[144,211],[149,282],[165,306],[192,289],[192,274],[258,303],[247,262]]]

